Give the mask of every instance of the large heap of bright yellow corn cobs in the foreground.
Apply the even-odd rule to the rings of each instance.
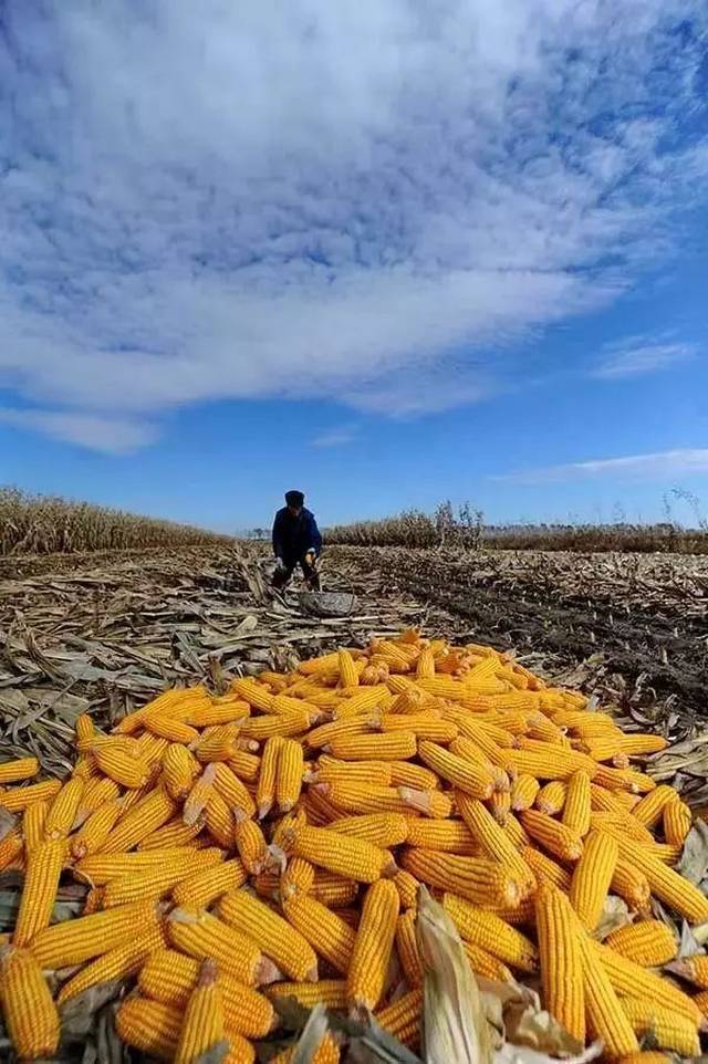
[[[81,717],[63,783],[25,785],[31,758],[0,765],[23,784],[0,794],[0,868],[24,874],[0,982],[18,1055],[51,1056],[66,1002],[113,981],[121,1037],[158,1060],[226,1042],[249,1064],[277,1037],[278,997],[372,1012],[415,1049],[423,883],[472,970],[538,973],[579,1045],[626,1064],[656,1064],[637,1056],[647,1044],[693,1056],[708,957],[676,962],[652,909],[708,921],[671,867],[691,815],[633,766],[664,745],[510,656],[417,632],[222,697],[166,691],[111,734]],[[84,915],[52,924],[62,877],[91,889]],[[610,895],[633,922],[601,942]],[[329,1033],[315,1064],[340,1054]]]

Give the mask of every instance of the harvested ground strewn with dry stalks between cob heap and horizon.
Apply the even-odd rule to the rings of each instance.
[[[0,560],[2,747],[63,772],[87,709],[111,720],[168,685],[219,689],[415,625],[513,650],[674,739],[708,714],[706,557],[335,546],[324,586],[358,605],[334,620],[273,598],[268,557],[242,543]]]

